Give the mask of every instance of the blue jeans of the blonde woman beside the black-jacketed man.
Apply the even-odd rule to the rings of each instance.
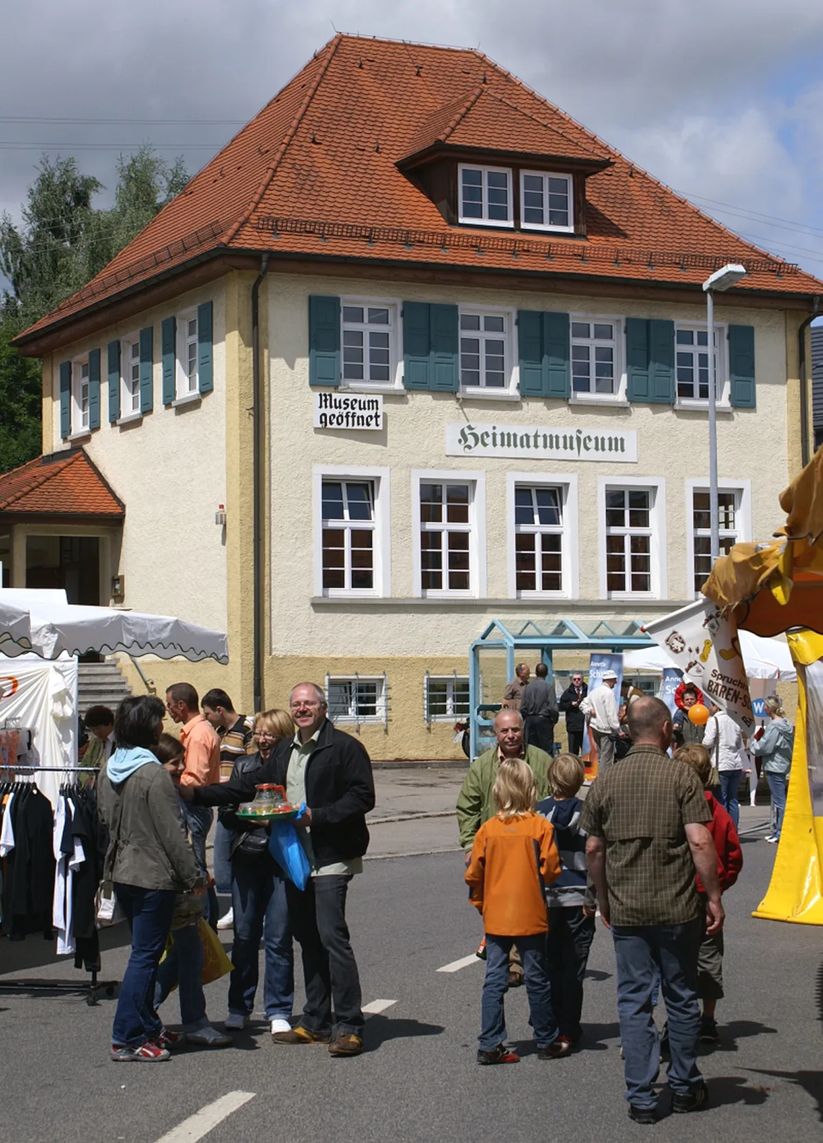
[[[232,862],[234,969],[228,982],[228,1010],[250,1016],[259,976],[260,940],[265,949],[264,1002],[266,1020],[289,1020],[294,1002],[294,959],[291,951],[285,882],[267,854]]]

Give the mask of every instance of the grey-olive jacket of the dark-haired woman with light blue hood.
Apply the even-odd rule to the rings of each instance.
[[[180,801],[162,766],[146,762],[118,785],[100,770],[97,807],[110,841],[104,880],[140,889],[193,889],[200,872],[180,828]]]

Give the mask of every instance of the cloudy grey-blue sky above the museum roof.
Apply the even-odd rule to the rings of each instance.
[[[3,15],[0,209],[40,155],[107,187],[153,144],[194,174],[336,31],[479,47],[637,165],[823,279],[823,3],[27,0]],[[16,45],[16,49],[8,50]]]

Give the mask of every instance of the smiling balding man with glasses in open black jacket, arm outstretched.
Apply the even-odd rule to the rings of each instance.
[[[300,1023],[276,1032],[276,1044],[328,1044],[338,1056],[363,1050],[363,1012],[357,964],[346,925],[348,882],[363,870],[369,846],[365,815],[374,806],[374,780],[364,748],[334,729],[326,718],[325,693],[301,682],[290,695],[293,740],[283,740],[265,766],[249,778],[189,788],[195,804],[240,805],[251,801],[257,784],[285,788],[293,805],[306,802],[301,841],[312,866],[304,892],[287,884],[289,917],[302,952],[306,1005]],[[186,791],[188,793],[188,791]],[[337,1038],[331,1041],[334,998]]]

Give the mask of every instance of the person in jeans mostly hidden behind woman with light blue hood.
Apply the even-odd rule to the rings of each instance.
[[[152,753],[156,754],[177,788],[184,766],[183,745],[179,740],[170,734],[161,734],[160,742],[152,748]],[[180,815],[180,831],[185,832],[183,815]],[[176,985],[178,990],[183,1033],[164,1029],[162,1045],[166,1048],[176,1048],[184,1042],[204,1048],[227,1048],[232,1044],[232,1037],[218,1032],[205,1015],[205,997],[201,980],[204,959],[203,943],[200,938],[202,916],[202,896],[195,896],[194,893],[177,894],[171,918],[171,946],[160,962],[154,985],[155,1009]]]

